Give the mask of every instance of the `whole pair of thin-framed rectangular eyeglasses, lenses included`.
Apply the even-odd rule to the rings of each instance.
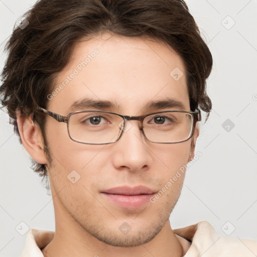
[[[192,138],[196,122],[201,120],[201,112],[168,110],[149,113],[141,116],[121,115],[109,111],[82,110],[62,116],[55,112],[38,107],[58,122],[67,123],[71,140],[89,145],[105,145],[117,142],[125,129],[128,120],[139,120],[140,130],[152,143],[175,144]],[[131,125],[127,124],[127,126]]]

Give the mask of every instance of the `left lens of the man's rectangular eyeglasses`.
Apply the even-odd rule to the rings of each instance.
[[[70,137],[81,143],[107,144],[119,137],[123,119],[105,112],[78,112],[70,116]]]

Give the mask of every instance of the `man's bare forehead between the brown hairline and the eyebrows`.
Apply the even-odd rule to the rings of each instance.
[[[126,115],[167,98],[189,110],[185,65],[171,47],[108,33],[75,45],[50,93],[48,107],[60,113],[83,98],[115,102],[115,111]]]

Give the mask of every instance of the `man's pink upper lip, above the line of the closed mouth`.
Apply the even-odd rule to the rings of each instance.
[[[136,186],[136,187],[121,186],[121,187],[114,187],[114,188],[104,190],[102,191],[102,193],[117,194],[117,195],[140,195],[140,194],[154,194],[155,191],[146,186]]]

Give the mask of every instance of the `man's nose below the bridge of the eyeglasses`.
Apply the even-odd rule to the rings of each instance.
[[[152,162],[150,144],[140,130],[139,121],[126,121],[121,138],[113,144],[112,161],[116,169],[147,170]]]

